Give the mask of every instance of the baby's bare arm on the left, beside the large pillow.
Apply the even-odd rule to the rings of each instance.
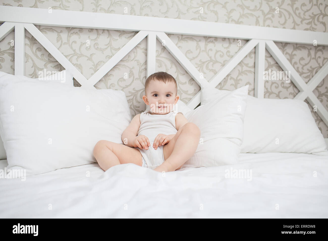
[[[137,114],[133,117],[130,125],[123,131],[122,141],[126,146],[132,148],[139,147],[140,149],[148,148],[148,146],[150,146],[149,140],[146,136],[142,135],[139,138],[141,140],[136,141],[140,124],[140,114]]]

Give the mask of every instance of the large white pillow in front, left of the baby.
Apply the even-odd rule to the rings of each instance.
[[[121,90],[89,90],[14,75],[0,78],[8,169],[26,175],[96,162],[99,140],[123,144],[131,114]]]

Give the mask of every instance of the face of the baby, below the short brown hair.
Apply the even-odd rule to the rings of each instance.
[[[179,100],[179,96],[175,96],[175,84],[162,81],[152,80],[147,88],[146,95],[142,96],[146,105],[150,106],[150,110],[154,114],[167,114],[171,112],[174,105]]]

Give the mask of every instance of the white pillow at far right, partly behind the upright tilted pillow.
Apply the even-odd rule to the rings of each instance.
[[[212,88],[201,103],[222,98],[229,90]],[[327,145],[308,105],[297,99],[247,96],[241,153],[295,152],[328,155]]]

